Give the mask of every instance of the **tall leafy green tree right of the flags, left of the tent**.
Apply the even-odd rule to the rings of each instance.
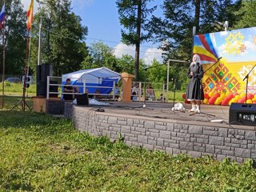
[[[87,27],[82,19],[71,12],[70,0],[45,0],[42,9],[35,15],[34,37],[38,34],[42,18],[42,62],[54,66],[54,75],[60,76],[74,70],[80,70],[82,62],[88,56],[86,43]],[[38,62],[38,37],[33,41],[34,51],[31,62]]]

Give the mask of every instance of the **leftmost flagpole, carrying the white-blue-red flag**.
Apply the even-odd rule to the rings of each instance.
[[[5,1],[3,2],[5,5]],[[6,71],[6,46],[5,46],[5,22],[2,24],[2,109],[5,102],[5,71]]]

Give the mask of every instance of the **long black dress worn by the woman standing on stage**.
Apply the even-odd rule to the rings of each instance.
[[[191,76],[190,72],[193,72],[194,75]],[[201,81],[203,77],[202,65],[199,63],[191,64],[187,76],[190,78],[190,82],[186,88],[186,99],[202,101],[204,99]]]

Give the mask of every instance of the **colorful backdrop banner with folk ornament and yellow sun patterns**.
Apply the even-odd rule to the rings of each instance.
[[[199,54],[203,69],[207,70],[202,79],[205,103],[222,104],[229,95],[223,105],[230,104],[232,99],[245,102],[243,79],[256,65],[256,27],[195,35],[193,52]],[[247,91],[249,102],[256,103],[256,67],[250,73]],[[216,99],[210,100],[214,96]]]

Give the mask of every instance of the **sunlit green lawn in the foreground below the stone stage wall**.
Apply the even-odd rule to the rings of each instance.
[[[46,114],[5,110],[0,117],[0,191],[256,190],[252,161],[130,148]]]

